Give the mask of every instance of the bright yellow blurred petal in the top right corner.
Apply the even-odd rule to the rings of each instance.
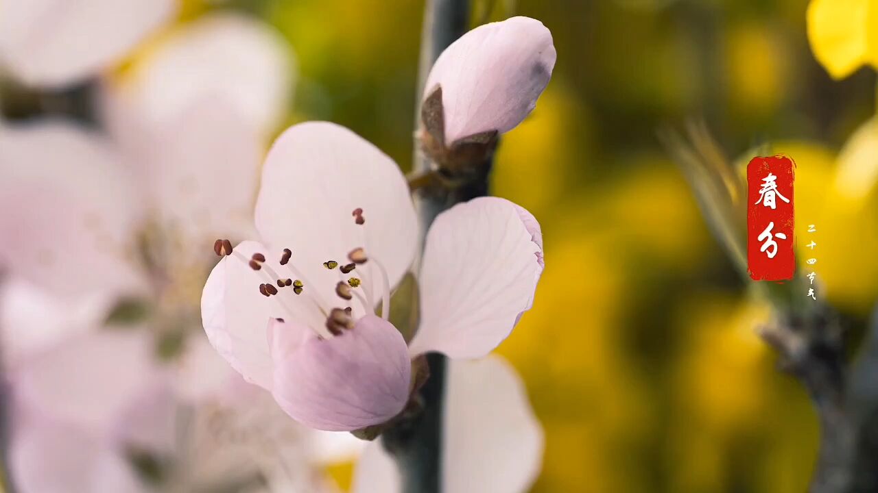
[[[808,39],[817,61],[834,79],[865,64],[878,66],[878,1],[812,0]]]

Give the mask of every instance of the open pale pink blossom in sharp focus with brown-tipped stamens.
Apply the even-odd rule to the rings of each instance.
[[[205,332],[248,382],[322,430],[399,414],[418,354],[489,353],[529,309],[543,270],[539,227],[527,211],[500,198],[458,204],[428,232],[421,324],[407,347],[387,321],[391,289],[417,247],[407,182],[376,147],[323,122],[277,139],[255,224],[263,241],[235,246],[205,284]]]

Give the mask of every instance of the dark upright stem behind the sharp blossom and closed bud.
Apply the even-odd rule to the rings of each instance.
[[[439,54],[466,32],[469,16],[469,0],[427,0],[421,35],[415,127],[421,125],[421,91],[429,70]],[[433,168],[417,145],[413,168],[415,175],[428,175]],[[483,190],[484,194],[487,185],[481,183],[476,189]],[[426,234],[429,225],[440,212],[455,202],[468,198],[471,197],[459,193],[443,193],[435,187],[430,190],[421,189],[415,195],[415,204],[421,216],[423,234]],[[447,361],[442,354],[428,354],[427,361],[430,377],[421,389],[424,411],[417,418],[397,425],[382,435],[385,449],[393,455],[399,468],[403,493],[440,493],[443,490],[443,394]]]

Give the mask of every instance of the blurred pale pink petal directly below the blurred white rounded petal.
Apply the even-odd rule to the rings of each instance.
[[[201,263],[214,239],[252,237],[264,145],[234,105],[202,98],[151,130],[135,162],[157,219],[179,239],[178,254]]]

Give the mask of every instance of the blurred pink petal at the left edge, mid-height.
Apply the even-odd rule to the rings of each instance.
[[[140,200],[123,164],[78,125],[0,125],[0,264],[67,297],[140,289],[127,257]]]

